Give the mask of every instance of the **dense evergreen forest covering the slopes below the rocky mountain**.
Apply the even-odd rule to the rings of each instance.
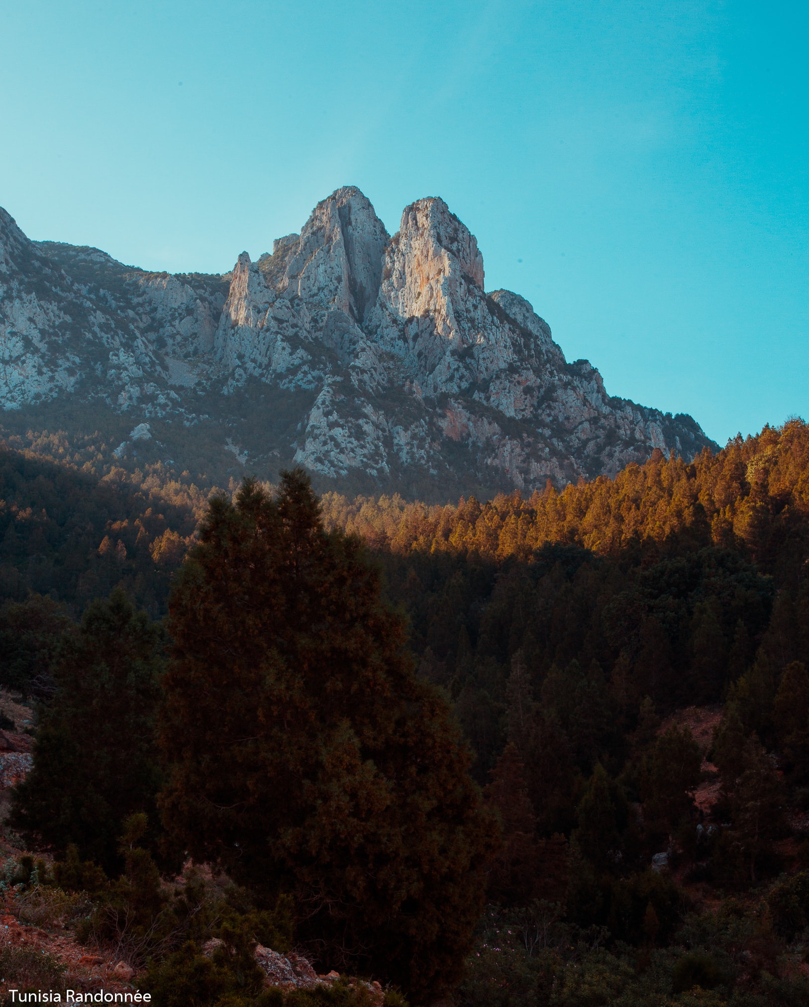
[[[154,1002],[809,1005],[806,424],[443,507],[88,452],[0,451],[7,885]]]

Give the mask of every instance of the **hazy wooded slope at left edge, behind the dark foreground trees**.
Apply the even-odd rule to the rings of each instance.
[[[59,436],[37,447],[0,450],[0,598],[46,594],[79,615],[120,584],[161,614],[207,495],[160,466],[97,472]]]

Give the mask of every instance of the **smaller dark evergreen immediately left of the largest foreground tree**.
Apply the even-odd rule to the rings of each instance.
[[[74,844],[108,873],[122,866],[124,821],[141,812],[157,820],[159,643],[122,590],[88,607],[55,658],[33,768],[13,793],[14,828],[58,852]]]

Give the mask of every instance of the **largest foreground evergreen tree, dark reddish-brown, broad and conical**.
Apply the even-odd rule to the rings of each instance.
[[[215,497],[169,607],[164,821],[187,852],[300,907],[298,937],[425,996],[451,984],[497,833],[445,701],[359,540],[308,478]]]

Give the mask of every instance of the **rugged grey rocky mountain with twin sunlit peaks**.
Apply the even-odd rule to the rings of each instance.
[[[489,293],[437,197],[390,237],[355,187],[225,276],[32,242],[0,209],[6,431],[95,436],[122,465],[227,482],[304,465],[319,488],[491,495],[613,475],[699,425],[606,394],[519,294]]]

